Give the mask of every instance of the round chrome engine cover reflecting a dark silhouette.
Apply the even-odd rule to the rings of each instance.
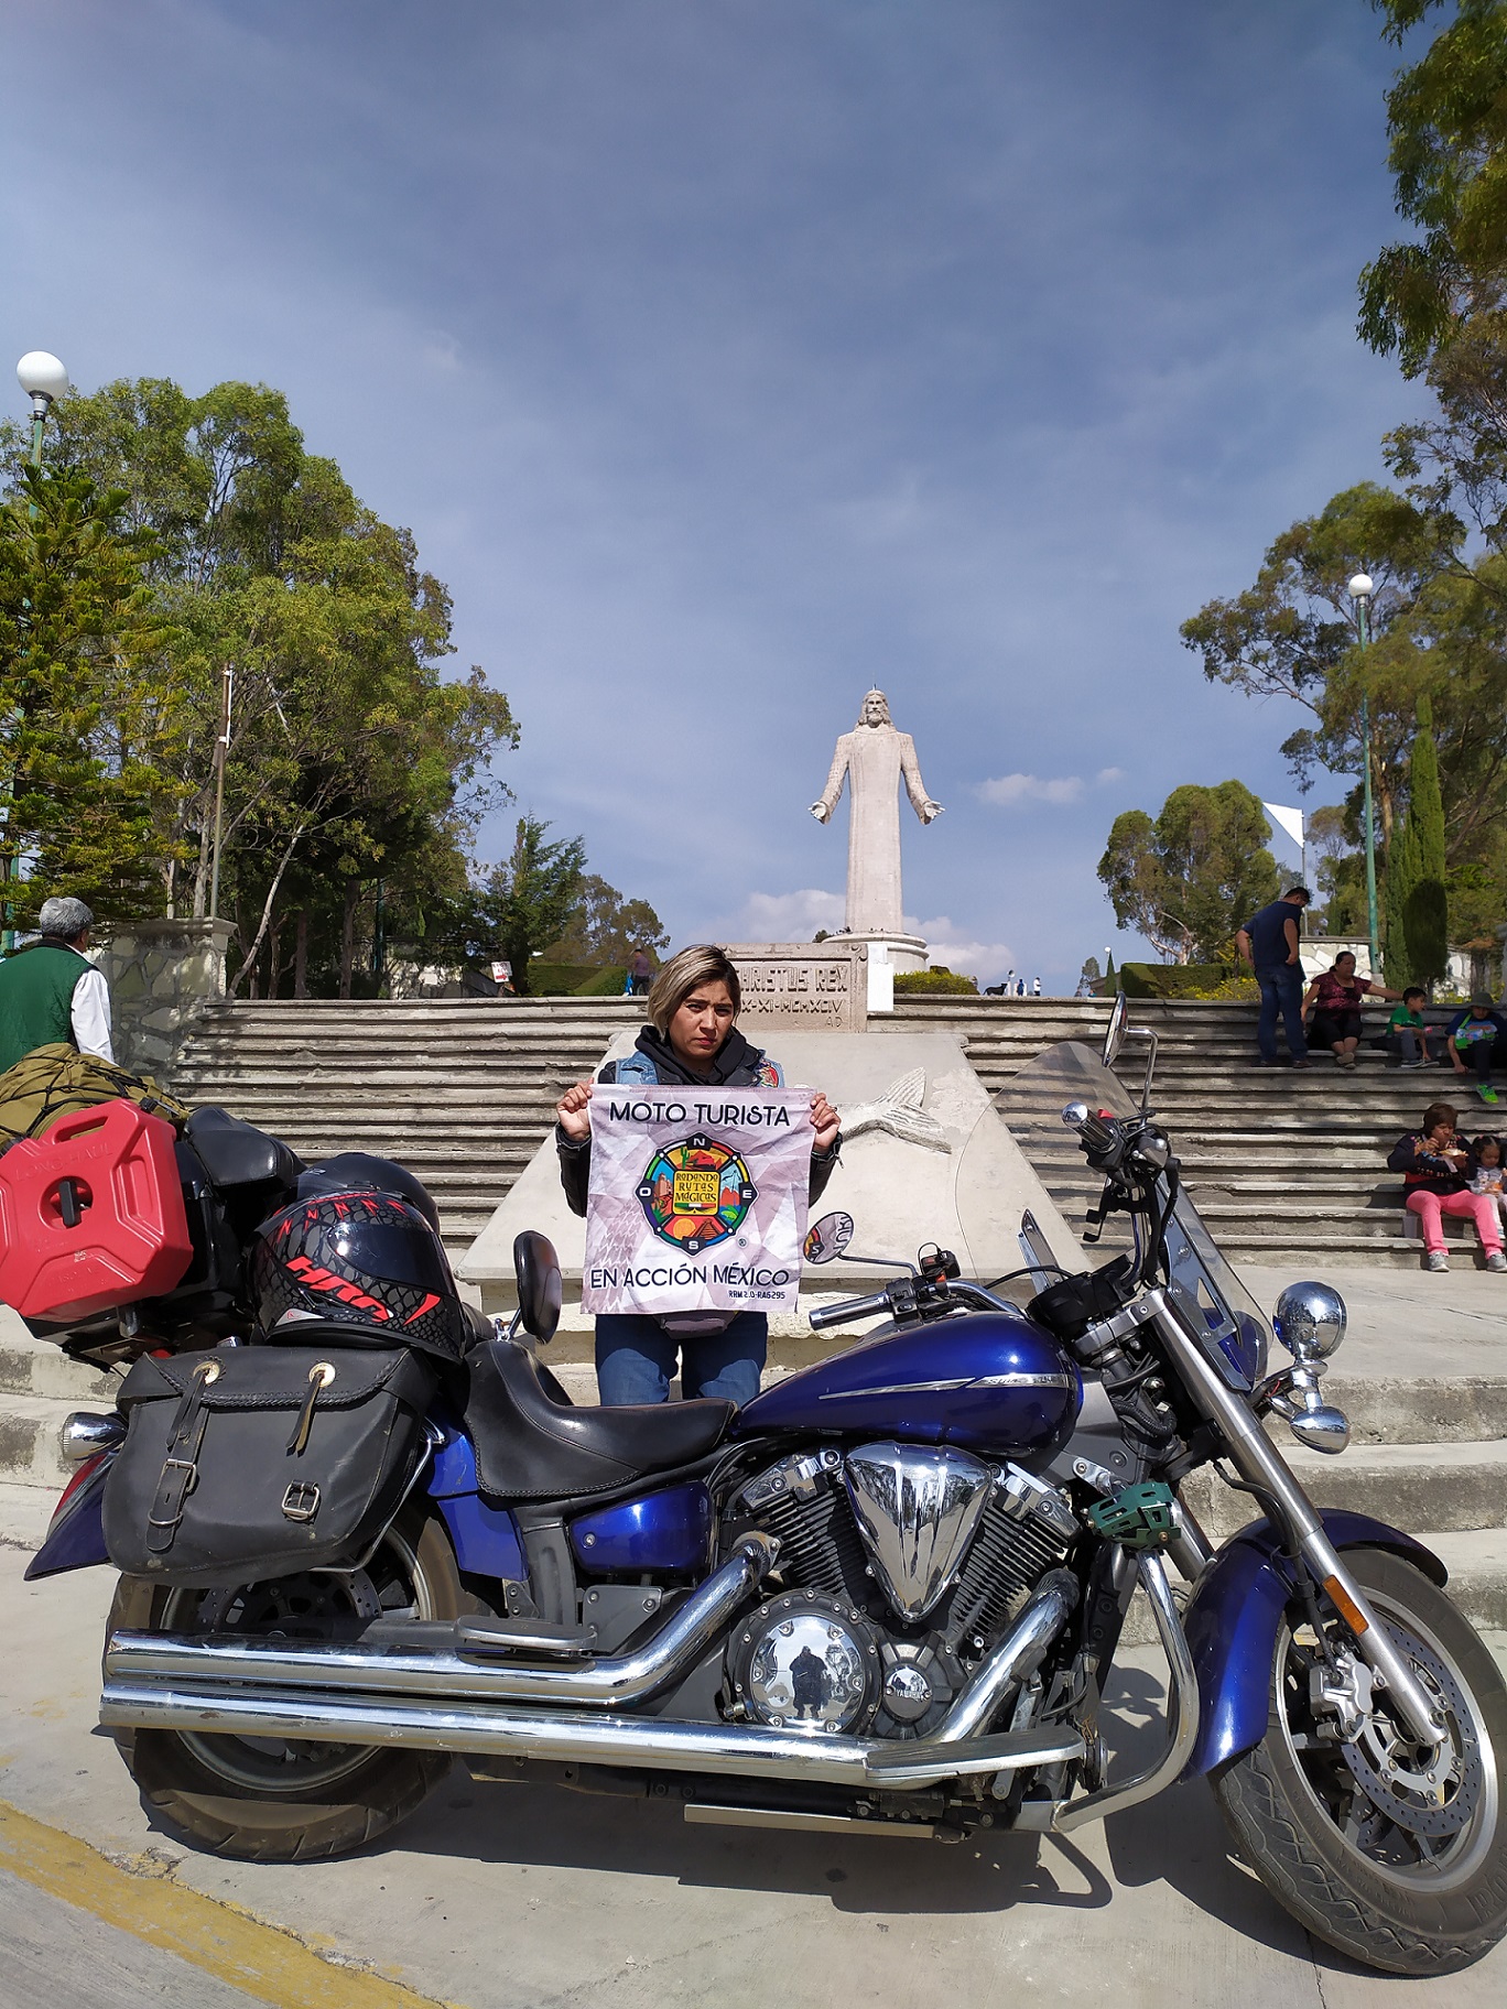
[[[786,1591],[741,1619],[727,1645],[731,1714],[772,1730],[860,1730],[880,1696],[874,1627],[824,1591]]]

